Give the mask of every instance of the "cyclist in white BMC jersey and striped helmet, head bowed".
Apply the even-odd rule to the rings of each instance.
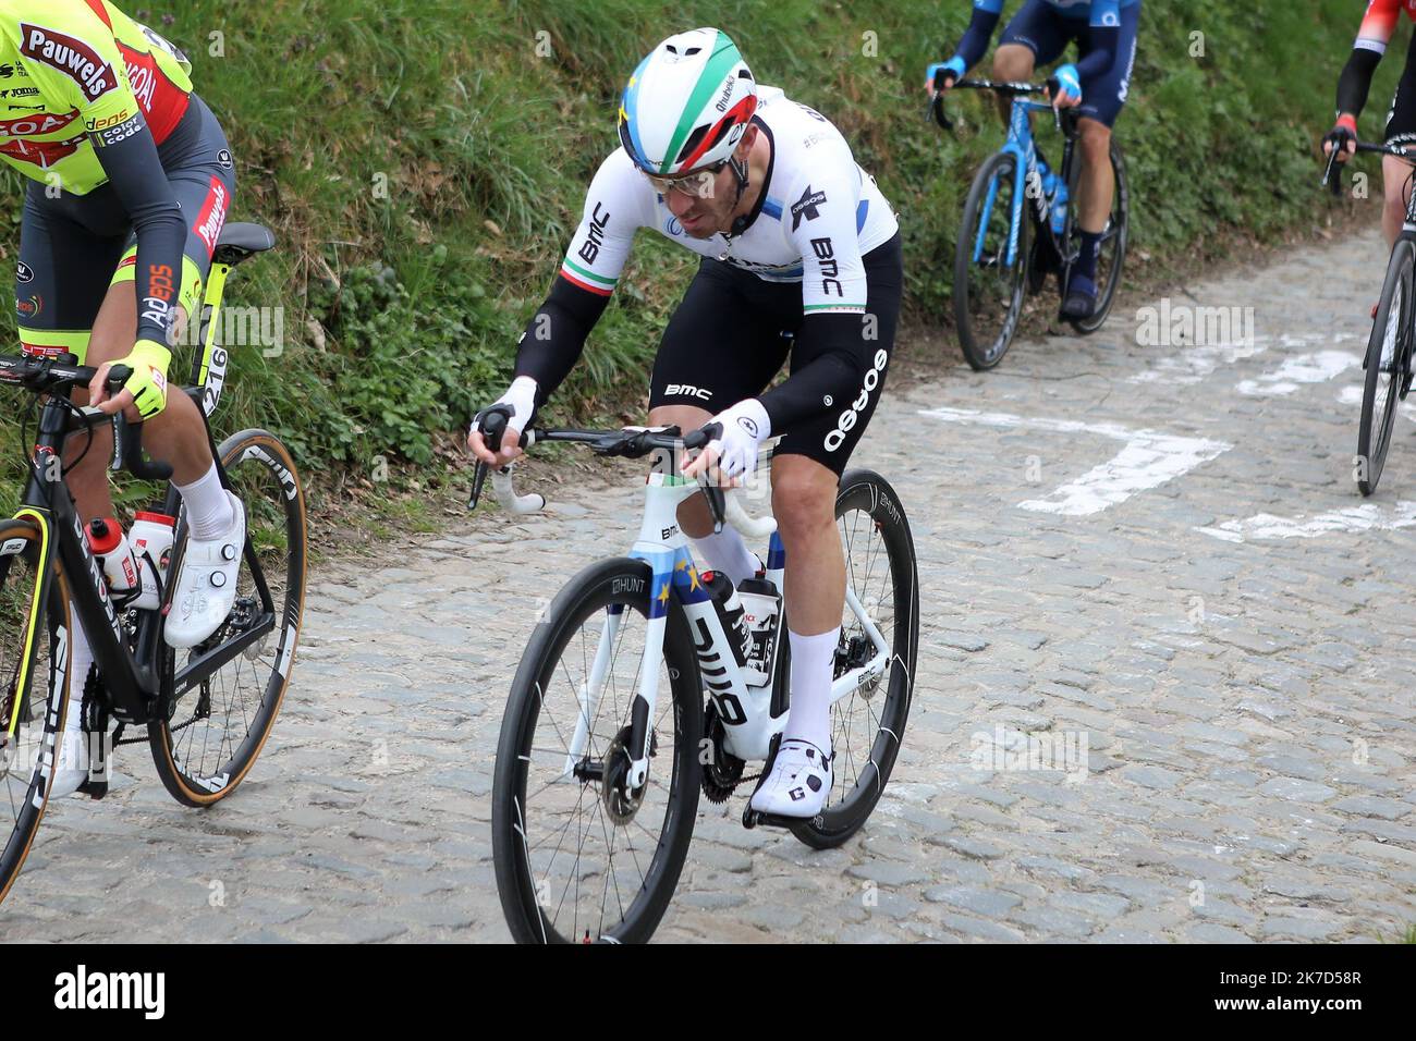
[[[769,776],[766,813],[810,817],[831,789],[830,688],[845,602],[835,493],[879,401],[903,290],[889,204],[820,113],[759,88],[716,28],[670,37],[630,76],[620,147],[602,163],[559,276],[521,337],[515,378],[494,404],[511,421],[497,450],[473,421],[484,462],[517,438],[571,371],[629,256],[653,228],[704,259],[664,330],[650,377],[653,425],[707,428],[684,467],[749,473],[767,438],[772,506],[786,545],[792,711]],[[790,357],[790,374],[766,389]],[[712,534],[700,499],[680,524],[738,584],[759,562],[732,528]]]

